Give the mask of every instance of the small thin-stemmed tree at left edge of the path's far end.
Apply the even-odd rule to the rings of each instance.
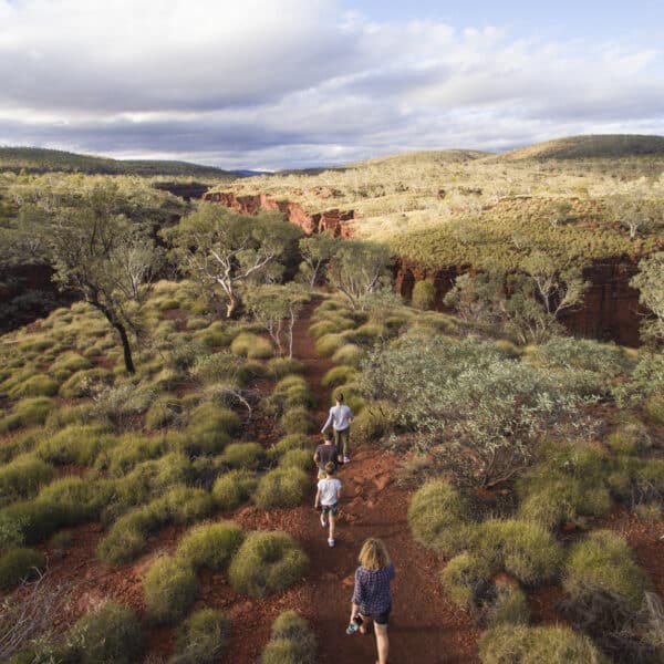
[[[293,328],[302,310],[307,295],[295,283],[287,286],[260,286],[247,291],[247,308],[269,333],[279,355],[293,356]],[[286,338],[286,340],[284,340]]]

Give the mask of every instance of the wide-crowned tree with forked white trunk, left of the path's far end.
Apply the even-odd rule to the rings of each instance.
[[[274,267],[302,231],[279,212],[248,217],[203,203],[163,236],[173,242],[175,259],[203,288],[221,287],[226,315],[231,318],[240,302],[239,287],[266,274],[279,278]]]

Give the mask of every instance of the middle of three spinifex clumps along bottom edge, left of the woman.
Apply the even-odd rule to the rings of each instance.
[[[177,651],[169,664],[219,662],[230,639],[230,621],[221,611],[201,609],[191,613],[178,630]]]

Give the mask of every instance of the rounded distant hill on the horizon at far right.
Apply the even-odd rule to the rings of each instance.
[[[496,162],[523,159],[592,159],[664,156],[664,136],[605,134],[569,136],[521,147],[492,157]]]

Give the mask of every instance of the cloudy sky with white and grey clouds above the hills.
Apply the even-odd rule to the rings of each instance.
[[[664,134],[664,0],[0,0],[0,145],[222,168]]]

